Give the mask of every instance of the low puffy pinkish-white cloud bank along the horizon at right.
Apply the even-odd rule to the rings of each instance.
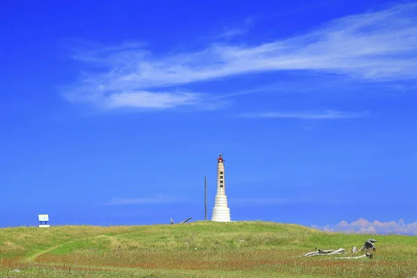
[[[359,218],[353,222],[346,222],[342,220],[335,226],[327,224],[325,226],[312,225],[315,229],[322,229],[325,231],[341,231],[345,233],[357,234],[406,234],[417,235],[417,222],[405,223],[404,220],[382,222],[374,220],[370,222],[366,219]]]

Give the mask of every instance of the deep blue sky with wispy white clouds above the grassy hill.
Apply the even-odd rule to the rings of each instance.
[[[233,220],[417,233],[416,2],[2,10],[0,227],[210,218],[223,152]]]

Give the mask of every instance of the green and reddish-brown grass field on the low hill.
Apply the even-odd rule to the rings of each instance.
[[[373,259],[298,257],[339,247],[351,256],[368,238],[378,240]],[[331,234],[272,222],[0,229],[0,277],[414,276],[416,236]]]

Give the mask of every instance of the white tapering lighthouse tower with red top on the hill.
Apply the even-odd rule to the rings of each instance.
[[[218,182],[217,195],[215,195],[215,202],[211,221],[230,222],[230,208],[227,206],[227,196],[225,193],[226,183],[224,181],[224,160],[222,154],[218,158]]]

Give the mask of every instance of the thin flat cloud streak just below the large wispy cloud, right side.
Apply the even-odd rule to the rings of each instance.
[[[238,117],[271,117],[271,118],[288,118],[288,119],[303,119],[303,120],[329,120],[329,119],[346,119],[356,117],[366,117],[369,113],[352,113],[343,111],[325,111],[322,113],[309,112],[264,112],[264,113],[243,113],[237,115]]]

